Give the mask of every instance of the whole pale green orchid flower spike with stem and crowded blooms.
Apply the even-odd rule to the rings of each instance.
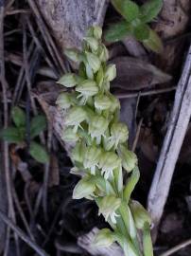
[[[151,219],[130,198],[140,176],[137,156],[128,149],[128,127],[119,121],[120,102],[110,92],[116,68],[107,64],[109,53],[101,37],[100,27],[90,27],[81,52],[66,50],[66,56],[78,62],[78,74],[67,73],[58,82],[68,88],[56,101],[65,113],[62,139],[75,144],[71,173],[81,177],[73,198],[95,200],[111,226],[98,232],[96,247],[117,242],[126,256],[152,256]]]

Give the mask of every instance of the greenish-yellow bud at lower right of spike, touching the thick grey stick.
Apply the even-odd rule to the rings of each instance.
[[[146,223],[151,224],[148,211],[138,201],[130,200],[130,210],[137,229],[144,229]]]

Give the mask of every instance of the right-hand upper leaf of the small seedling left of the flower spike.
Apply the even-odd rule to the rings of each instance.
[[[38,115],[31,120],[30,137],[36,137],[46,128],[46,119],[43,115]]]

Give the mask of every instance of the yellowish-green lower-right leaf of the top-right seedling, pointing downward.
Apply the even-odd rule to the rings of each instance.
[[[153,29],[149,29],[149,37],[143,41],[143,44],[156,53],[161,53],[164,49],[161,38]]]

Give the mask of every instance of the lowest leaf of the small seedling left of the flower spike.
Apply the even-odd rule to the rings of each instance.
[[[40,163],[47,163],[49,161],[49,155],[45,148],[37,142],[31,142],[29,154]]]

